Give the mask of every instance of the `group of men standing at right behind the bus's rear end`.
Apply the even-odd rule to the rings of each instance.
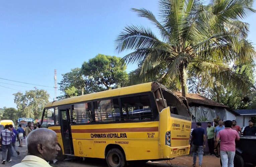
[[[245,127],[243,136],[255,135],[256,127],[254,122],[249,121],[249,126]],[[209,154],[211,156],[221,157],[222,167],[234,167],[234,157],[236,153],[235,140],[240,140],[241,127],[236,125],[236,121],[223,120],[207,123],[206,132],[201,127],[201,123],[196,123],[196,129],[191,133],[190,145],[193,154],[193,166],[196,166],[196,155],[198,154],[199,167],[202,167],[203,149],[207,141]]]

